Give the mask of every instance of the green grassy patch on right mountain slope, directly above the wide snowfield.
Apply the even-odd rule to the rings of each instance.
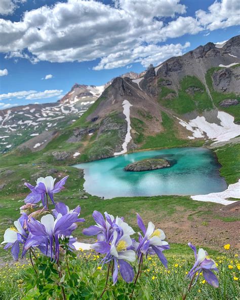
[[[195,91],[194,95],[191,95],[186,91],[188,88],[198,88],[200,90]],[[164,99],[170,93],[175,92],[167,87],[161,87],[159,102],[172,109],[177,114],[183,115],[190,113],[193,110],[202,112],[205,109],[210,110],[213,108],[205,86],[194,76],[186,76],[182,79],[180,82],[180,89],[176,97],[173,99]]]

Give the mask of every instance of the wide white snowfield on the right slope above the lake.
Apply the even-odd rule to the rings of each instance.
[[[240,135],[240,125],[234,124],[234,117],[224,111],[218,111],[220,125],[209,123],[205,117],[199,116],[188,123],[179,118],[177,119],[180,120],[180,125],[192,132],[192,136],[188,136],[189,139],[204,138],[206,135],[209,139],[219,142],[228,141]]]

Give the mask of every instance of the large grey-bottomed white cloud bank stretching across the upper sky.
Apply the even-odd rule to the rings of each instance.
[[[161,53],[164,46],[159,43],[169,38],[240,24],[237,0],[214,2],[207,11],[198,10],[196,17],[184,16],[186,12],[180,0],[115,0],[113,6],[98,1],[57,2],[25,12],[19,22],[0,19],[0,52],[32,63],[100,59],[95,70],[137,61],[146,66],[168,57],[157,51]],[[166,46],[177,55],[186,48]]]

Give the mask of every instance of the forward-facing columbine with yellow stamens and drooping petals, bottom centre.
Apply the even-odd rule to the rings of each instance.
[[[106,254],[103,263],[113,261],[113,284],[117,282],[118,265],[119,272],[126,282],[132,282],[134,279],[134,271],[132,266],[126,261],[134,261],[136,254],[134,250],[129,250],[132,246],[132,239],[129,235],[124,234],[122,230],[113,232],[111,245],[105,241],[99,241],[91,246],[95,251]]]

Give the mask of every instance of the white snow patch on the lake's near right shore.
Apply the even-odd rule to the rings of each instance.
[[[237,201],[226,200],[228,198],[240,199],[240,179],[236,183],[229,184],[227,189],[223,192],[211,193],[208,195],[191,196],[192,200],[215,202],[223,205],[229,205],[231,203],[237,202]]]

